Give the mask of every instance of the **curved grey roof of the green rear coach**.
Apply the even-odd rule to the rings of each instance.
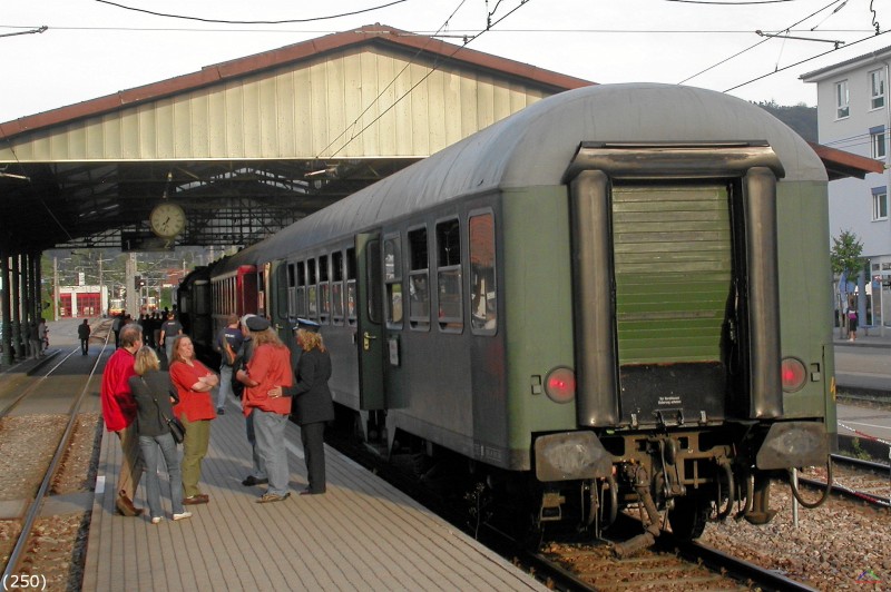
[[[766,140],[787,180],[826,181],[813,149],[755,105],[676,85],[599,85],[546,98],[294,223],[255,245],[257,263],[463,195],[559,185],[582,141],[743,140]]]

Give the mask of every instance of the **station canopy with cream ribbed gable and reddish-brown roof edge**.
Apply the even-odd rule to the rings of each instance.
[[[381,24],[207,66],[0,124],[0,244],[7,253],[251,245],[593,83]],[[830,178],[881,168],[817,154]],[[174,238],[148,223],[165,201],[186,213]]]

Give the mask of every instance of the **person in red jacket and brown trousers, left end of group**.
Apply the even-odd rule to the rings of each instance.
[[[102,372],[102,387],[99,397],[102,403],[105,427],[115,432],[123,452],[118,473],[117,499],[115,505],[125,516],[138,516],[140,507],[133,504],[133,496],[145,470],[143,454],[139,452],[139,437],[136,433],[136,401],[128,383],[136,375],[134,363],[136,352],[143,346],[143,329],[139,325],[127,325],[120,330],[120,347],[111,354]]]

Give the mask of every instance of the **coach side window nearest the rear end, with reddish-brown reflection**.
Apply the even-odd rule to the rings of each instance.
[[[471,215],[470,330],[492,335],[498,327],[495,284],[495,219],[491,213]]]

